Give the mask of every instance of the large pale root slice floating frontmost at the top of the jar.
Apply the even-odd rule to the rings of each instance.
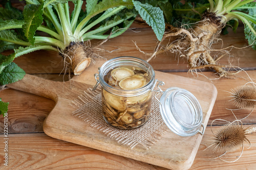
[[[126,77],[119,82],[119,86],[124,90],[133,90],[143,87],[146,84],[146,78],[141,75]]]

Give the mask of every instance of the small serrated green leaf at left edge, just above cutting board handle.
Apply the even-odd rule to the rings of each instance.
[[[14,83],[23,79],[26,72],[15,63],[7,65],[0,74],[0,85]]]

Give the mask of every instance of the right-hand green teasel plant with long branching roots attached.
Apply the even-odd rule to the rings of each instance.
[[[195,8],[191,4],[194,4]],[[253,0],[187,0],[184,4],[179,1],[158,1],[154,5],[163,10],[166,22],[174,26],[179,23],[181,27],[163,35],[155,51],[147,54],[150,56],[148,62],[160,53],[171,52],[187,60],[191,72],[208,67],[214,69],[219,77],[235,75],[239,71],[231,72],[230,67],[218,63],[222,57],[229,55],[229,52],[225,49],[215,49],[215,52],[218,52],[215,56],[211,45],[220,39],[220,33],[225,26],[231,26],[236,32],[239,20],[244,23],[245,38],[249,45],[256,49],[256,3]],[[194,13],[197,15],[192,15]],[[183,21],[184,24],[181,23]],[[175,41],[162,45],[164,39],[174,36],[177,36]]]

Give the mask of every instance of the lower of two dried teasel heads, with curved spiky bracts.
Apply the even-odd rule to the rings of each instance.
[[[225,122],[228,122],[227,120],[224,119],[215,119],[215,120],[223,120]],[[215,122],[212,121],[212,123]],[[212,125],[211,123],[211,125]],[[212,130],[212,134],[214,134],[214,137],[211,139],[211,144],[209,147],[207,147],[205,150],[209,148],[213,148],[212,151],[215,153],[217,156],[216,158],[212,159],[221,159],[222,161],[225,162],[235,162],[237,161],[243,154],[244,151],[244,142],[247,142],[249,144],[249,148],[251,147],[250,141],[247,139],[247,135],[253,133],[256,131],[256,127],[247,127],[245,128],[243,126],[243,123],[241,120],[234,120],[233,122],[228,122],[227,125],[221,127],[217,133],[214,133]],[[228,152],[235,151],[239,148],[242,148],[240,156],[236,160],[233,161],[226,161],[222,159],[221,157],[225,155]],[[248,148],[248,149],[249,149]],[[220,156],[216,154],[216,152],[221,152]]]

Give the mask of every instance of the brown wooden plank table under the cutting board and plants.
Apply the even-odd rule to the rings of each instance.
[[[131,28],[133,31],[126,31],[123,35],[110,39],[101,47],[112,53],[102,52],[101,56],[113,58],[117,56],[135,56],[147,59],[147,56],[136,49],[135,44],[146,53],[152,53],[156,44],[156,37],[152,29],[145,25],[134,23]],[[236,46],[244,47],[247,42],[243,35],[243,26],[239,26],[236,34],[229,31],[228,35],[221,35],[223,47]],[[92,41],[96,43],[96,41]],[[214,45],[219,49],[222,46],[220,41]],[[231,48],[228,48],[231,50]],[[9,54],[6,52],[5,54]],[[247,74],[255,81],[256,79],[256,57],[255,51],[250,47],[242,50],[232,48],[230,57],[221,59],[220,63],[240,66],[248,69]],[[56,52],[38,51],[16,58],[14,60],[22,67],[27,74],[32,74],[45,79],[54,81],[67,81],[67,75],[63,75],[63,64],[61,57]],[[192,75],[188,71],[187,62],[174,54],[165,53],[158,55],[150,61],[155,70],[169,72],[192,79],[198,79],[213,83],[218,89],[218,96],[212,110],[206,132],[203,136],[201,145],[196,155],[191,169],[256,169],[256,137],[248,135],[251,148],[245,144],[242,157],[234,163],[226,163],[220,159],[210,159],[216,157],[209,150],[204,151],[209,146],[208,139],[212,137],[210,124],[212,120],[222,118],[232,122],[235,120],[232,113],[225,109],[225,102],[229,100],[227,96],[232,88],[245,84],[248,76],[241,72],[232,79],[218,79],[209,69],[200,72],[200,75]],[[62,72],[62,73],[61,73]],[[61,73],[61,74],[60,74]],[[202,75],[203,76],[202,76]],[[216,80],[209,80],[216,79]],[[256,81],[255,81],[256,82]],[[204,87],[205,88],[205,87]],[[207,87],[206,87],[207,88]],[[165,169],[163,167],[139,162],[133,159],[113,155],[98,151],[88,147],[83,147],[74,143],[58,140],[47,136],[42,130],[42,125],[55,103],[49,99],[29,94],[26,92],[6,88],[0,92],[0,98],[4,102],[10,102],[8,111],[8,167],[4,165],[4,118],[0,117],[0,169]],[[238,118],[248,114],[248,111],[236,112]],[[245,127],[256,126],[255,111],[243,120]],[[222,126],[223,122],[215,122],[212,129]],[[239,156],[241,150],[233,151],[225,156],[226,160],[234,160]]]

